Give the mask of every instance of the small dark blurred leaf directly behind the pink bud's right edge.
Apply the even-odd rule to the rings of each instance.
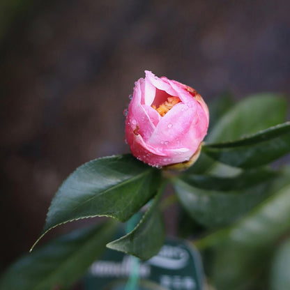
[[[208,110],[211,114],[208,133],[213,130],[217,121],[219,121],[233,105],[234,99],[229,92],[222,93],[220,97],[208,103]]]

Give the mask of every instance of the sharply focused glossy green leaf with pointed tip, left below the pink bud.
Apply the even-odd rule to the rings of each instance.
[[[42,236],[59,224],[85,217],[107,216],[124,222],[151,199],[159,183],[160,170],[129,154],[87,162],[56,192]]]

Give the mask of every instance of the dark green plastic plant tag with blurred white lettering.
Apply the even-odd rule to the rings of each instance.
[[[107,250],[89,268],[84,277],[84,289],[123,290],[130,276],[131,266],[131,256]],[[139,261],[138,270],[139,290],[203,289],[204,272],[199,252],[185,241],[167,240],[155,257],[148,261]]]

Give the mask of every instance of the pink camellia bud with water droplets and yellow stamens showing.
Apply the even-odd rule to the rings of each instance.
[[[125,114],[125,138],[132,154],[148,165],[186,168],[206,136],[208,107],[190,86],[145,73],[135,82]]]

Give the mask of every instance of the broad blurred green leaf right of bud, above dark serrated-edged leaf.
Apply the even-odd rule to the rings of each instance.
[[[228,142],[283,123],[287,100],[276,93],[244,98],[224,114],[208,135],[207,142]]]

